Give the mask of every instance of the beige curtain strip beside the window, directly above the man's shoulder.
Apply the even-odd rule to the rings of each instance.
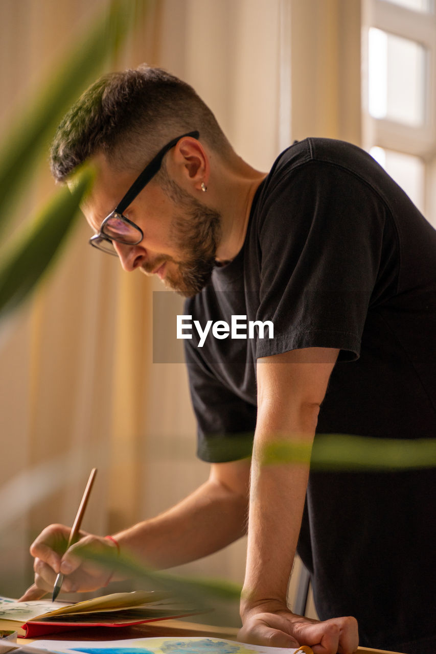
[[[291,0],[292,134],[361,145],[361,1]]]

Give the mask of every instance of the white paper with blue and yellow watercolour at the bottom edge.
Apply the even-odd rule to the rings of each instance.
[[[133,638],[132,640],[72,641],[43,640],[32,643],[32,654],[43,650],[56,654],[313,654],[307,645],[286,649],[247,645],[236,640],[192,636]],[[12,654],[12,653],[11,653]],[[30,653],[29,653],[30,654]]]

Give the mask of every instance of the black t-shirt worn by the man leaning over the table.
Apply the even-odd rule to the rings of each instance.
[[[355,146],[285,150],[257,190],[244,247],[185,313],[202,326],[232,315],[274,324],[272,339],[255,328],[251,339],[209,334],[198,347],[193,330],[185,341],[204,460],[249,455],[257,358],[304,347],[340,349],[317,434],[435,437],[436,232]],[[434,470],[310,472],[299,553],[321,619],[355,615],[362,644],[385,649],[436,638],[435,494]]]

